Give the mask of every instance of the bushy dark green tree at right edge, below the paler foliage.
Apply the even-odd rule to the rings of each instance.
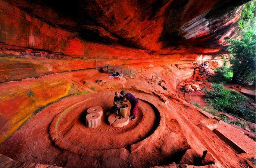
[[[248,30],[241,39],[230,39],[229,42],[232,83],[248,83],[255,75],[255,31]]]

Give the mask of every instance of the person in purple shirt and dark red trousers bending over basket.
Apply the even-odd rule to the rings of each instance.
[[[131,114],[129,119],[136,120],[139,100],[135,96],[133,96],[133,94],[128,92],[126,93],[124,90],[121,91],[121,94],[123,95],[123,100],[126,98],[126,100],[124,101],[129,100],[129,102],[131,103]]]

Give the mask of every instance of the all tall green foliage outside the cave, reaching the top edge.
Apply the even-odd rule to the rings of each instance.
[[[238,21],[237,39],[230,39],[232,83],[255,85],[255,0],[246,3]]]

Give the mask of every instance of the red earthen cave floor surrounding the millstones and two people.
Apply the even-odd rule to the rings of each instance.
[[[89,70],[57,74],[65,78],[72,76],[73,83],[77,84],[74,88],[81,90],[81,86],[86,85],[87,90],[37,111],[0,145],[0,154],[20,162],[61,167],[153,167],[173,162],[247,167],[245,159],[255,155],[252,139],[241,132],[232,132],[242,137],[240,144],[247,143],[247,148],[252,148],[246,149],[246,154],[238,154],[209,129],[207,122],[215,120],[213,116],[172,96],[159,85],[131,78],[111,80],[107,74],[96,73],[99,74]],[[56,76],[48,78],[56,79]],[[97,84],[99,78],[105,83]],[[121,90],[133,93],[140,100],[138,119],[115,128],[107,124],[106,113],[115,91]],[[163,101],[166,95],[169,95],[167,103]],[[103,116],[99,127],[89,129],[84,126],[84,114],[92,106],[102,106]],[[193,161],[205,150],[208,153],[202,163]]]

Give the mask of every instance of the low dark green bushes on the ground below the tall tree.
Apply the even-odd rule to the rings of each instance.
[[[255,112],[246,107],[246,99],[236,91],[224,88],[222,84],[213,83],[214,90],[206,91],[205,101],[214,109],[232,114],[255,123]]]

